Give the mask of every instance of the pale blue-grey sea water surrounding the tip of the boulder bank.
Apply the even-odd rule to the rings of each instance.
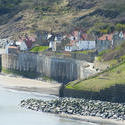
[[[0,88],[0,125],[95,125],[54,114],[23,109],[19,103],[27,98],[49,100],[56,97]]]

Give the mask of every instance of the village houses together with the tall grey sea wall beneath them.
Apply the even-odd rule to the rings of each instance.
[[[4,50],[2,68],[27,72],[29,76],[29,72],[34,72],[36,77],[41,74],[67,84],[109,68],[108,64],[96,61],[96,57],[99,53],[117,48],[124,41],[123,31],[97,37],[82,30],[69,34],[24,34],[15,40],[11,37],[0,39]]]

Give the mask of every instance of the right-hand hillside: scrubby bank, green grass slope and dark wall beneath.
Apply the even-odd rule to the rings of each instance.
[[[100,52],[97,59],[100,62],[98,68],[103,64],[108,64],[108,68],[95,76],[68,83],[64,95],[71,96],[74,93],[73,97],[124,102],[125,43]],[[68,93],[67,90],[70,92]]]

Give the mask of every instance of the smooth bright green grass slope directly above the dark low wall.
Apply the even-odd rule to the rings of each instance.
[[[66,88],[99,92],[117,84],[125,85],[125,63],[88,80],[71,82]]]

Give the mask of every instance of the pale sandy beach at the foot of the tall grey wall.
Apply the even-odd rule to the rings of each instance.
[[[38,92],[41,94],[59,95],[59,83],[49,83],[21,77],[0,75],[0,86],[19,91]]]

